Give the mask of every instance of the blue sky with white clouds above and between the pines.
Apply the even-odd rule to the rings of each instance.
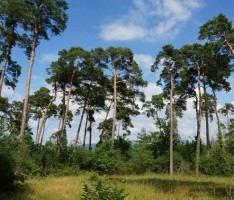
[[[68,0],[69,21],[67,29],[49,41],[41,41],[37,48],[33,68],[31,94],[45,86],[45,69],[57,58],[57,52],[80,46],[90,50],[96,47],[129,47],[135,53],[135,59],[144,71],[144,78],[149,81],[145,89],[148,98],[158,93],[155,86],[156,74],[150,72],[155,55],[165,44],[179,48],[184,44],[198,42],[199,27],[209,19],[224,13],[234,21],[233,0]],[[28,61],[21,49],[15,49],[13,57],[23,67],[15,92],[4,89],[10,100],[24,97]],[[230,78],[233,82],[233,79]],[[234,101],[232,92],[223,94],[221,104]],[[189,110],[187,126],[183,127],[189,136],[194,113]],[[186,117],[185,117],[186,118]],[[191,118],[191,119],[190,119]],[[136,119],[137,120],[137,119]],[[141,120],[141,119],[139,119]],[[185,119],[183,119],[185,120]],[[147,120],[145,119],[144,123]],[[195,122],[195,121],[194,121]],[[143,126],[144,123],[141,125]],[[137,132],[138,126],[133,129]],[[185,124],[185,123],[183,123]],[[193,127],[195,127],[193,125]],[[153,129],[153,125],[151,127]],[[72,136],[71,136],[72,137]]]

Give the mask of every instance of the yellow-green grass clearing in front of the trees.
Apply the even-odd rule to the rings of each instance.
[[[11,194],[0,194],[1,200],[75,200],[91,174],[66,177],[34,178]],[[234,178],[206,176],[173,176],[148,174],[141,176],[103,176],[114,187],[123,187],[127,200],[154,199],[234,199]]]

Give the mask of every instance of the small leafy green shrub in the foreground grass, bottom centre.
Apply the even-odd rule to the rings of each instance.
[[[123,200],[126,196],[123,188],[111,187],[109,183],[95,180],[91,186],[84,185],[81,200]]]

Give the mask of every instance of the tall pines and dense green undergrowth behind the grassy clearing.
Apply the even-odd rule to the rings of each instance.
[[[234,28],[225,15],[200,27],[200,43],[179,49],[166,44],[155,52],[151,69],[152,73],[160,71],[155,82],[163,92],[150,101],[145,101],[141,89],[147,80],[131,49],[112,46],[90,51],[62,49],[46,69],[50,89],[41,87],[30,94],[37,47],[66,29],[67,9],[63,0],[0,1],[0,190],[32,176],[71,175],[82,170],[111,175],[234,175],[234,105],[227,102],[219,108],[217,98],[220,91],[231,90],[228,80],[233,71]],[[16,88],[21,68],[26,67],[14,60],[14,48],[21,48],[29,62],[23,101],[2,96],[4,87]],[[178,119],[188,99],[194,102],[197,135],[184,141],[178,134]],[[71,104],[79,105],[75,113],[69,109]],[[93,123],[100,112],[105,118],[93,148]],[[76,137],[69,143],[67,129],[74,115],[80,120]],[[147,132],[146,124],[137,140],[130,141],[131,119],[137,115],[152,118],[155,131]],[[57,119],[59,127],[45,141],[50,118]],[[30,119],[38,123],[35,131]],[[212,120],[217,122],[215,141],[210,139]],[[201,141],[202,123],[206,141]],[[119,127],[123,135],[118,134]]]

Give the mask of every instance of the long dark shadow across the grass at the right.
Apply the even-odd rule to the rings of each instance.
[[[140,184],[150,186],[163,193],[175,194],[181,190],[188,191],[189,197],[196,198],[200,194],[215,199],[234,199],[234,185],[215,183],[212,181],[193,181],[193,180],[174,180],[161,178],[118,178],[112,177],[112,180],[121,181],[125,184]]]

